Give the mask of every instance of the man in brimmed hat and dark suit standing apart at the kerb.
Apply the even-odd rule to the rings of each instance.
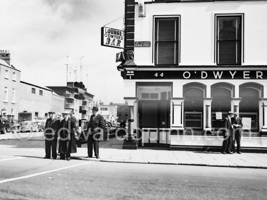
[[[88,139],[87,139],[87,158],[93,156],[93,146],[96,158],[99,158],[99,138],[100,132],[105,127],[104,118],[98,113],[98,108],[93,107],[93,114],[90,117],[89,129],[88,129]]]

